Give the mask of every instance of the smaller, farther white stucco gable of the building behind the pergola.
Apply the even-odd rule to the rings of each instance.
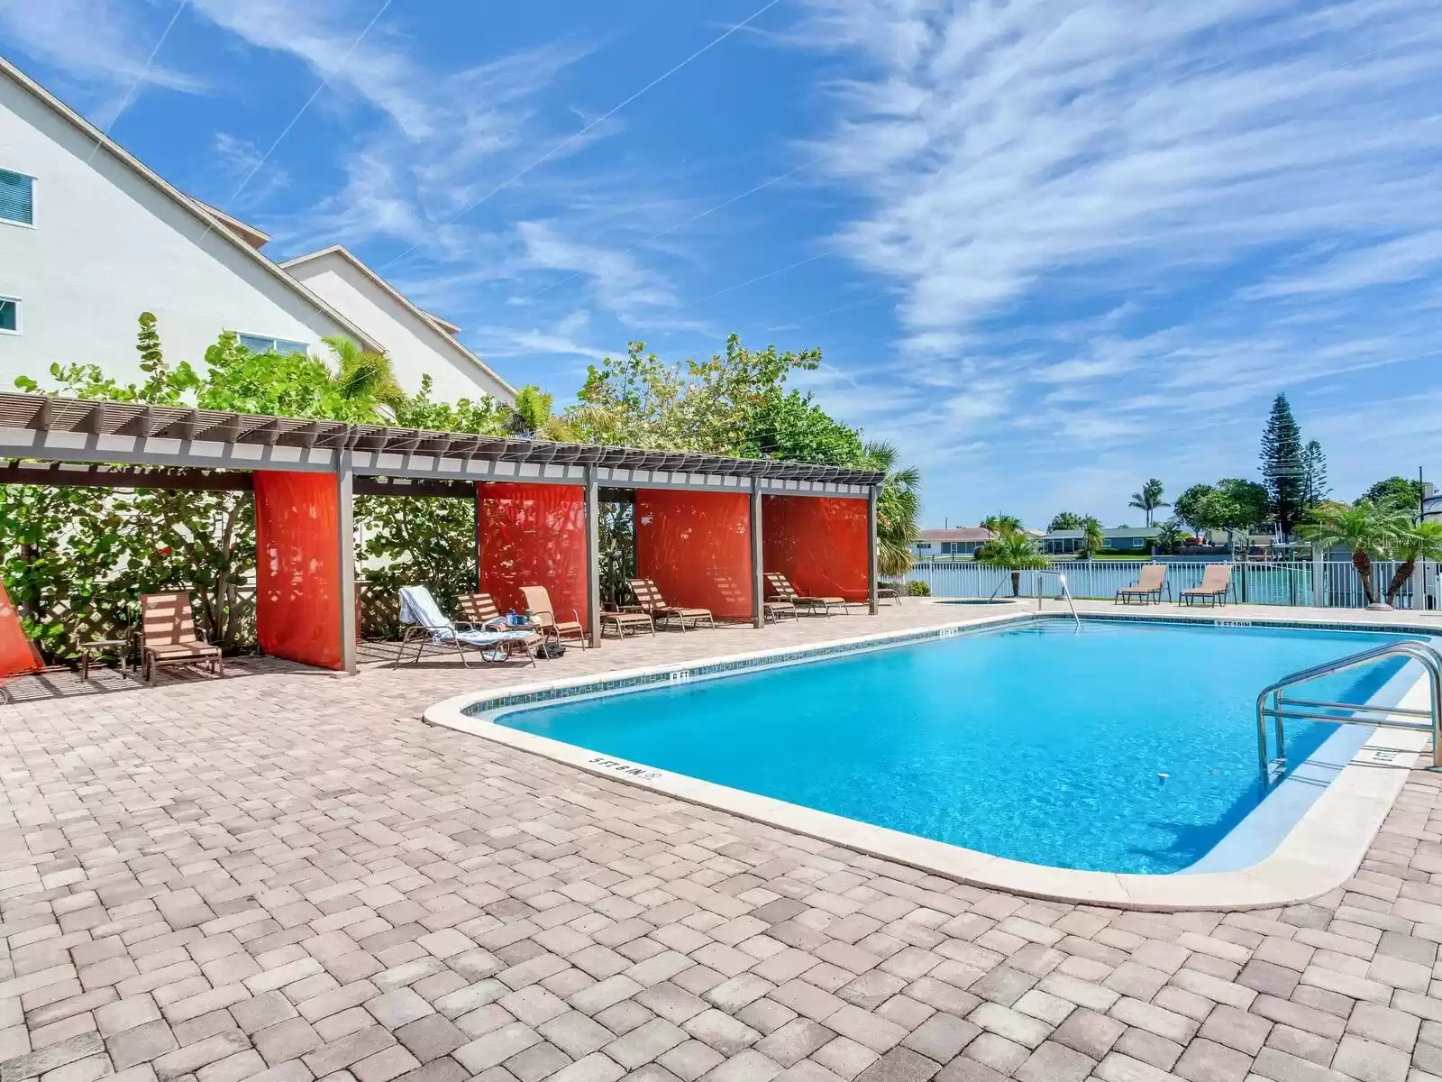
[[[516,388],[456,339],[460,327],[415,307],[348,248],[323,248],[281,268],[384,342],[407,391],[417,391],[421,374],[428,372],[438,401],[474,398],[477,388],[503,403],[515,401]]]

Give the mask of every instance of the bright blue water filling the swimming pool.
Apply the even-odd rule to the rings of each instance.
[[[497,721],[1014,860],[1167,873],[1262,799],[1257,691],[1399,638],[1106,622],[1079,633],[1037,620]],[[1399,669],[1383,662],[1306,694],[1366,701]],[[1288,759],[1335,731],[1288,723]]]

